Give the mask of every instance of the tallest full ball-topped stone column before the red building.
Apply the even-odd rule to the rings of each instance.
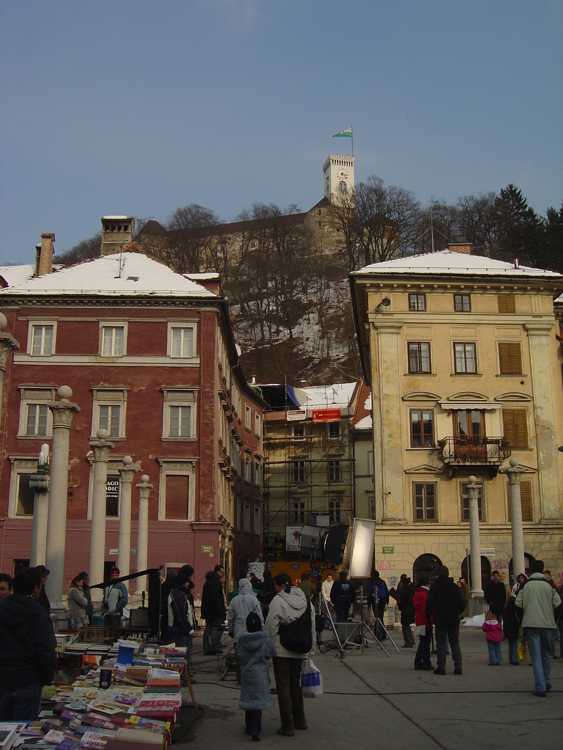
[[[51,610],[54,610],[55,614],[57,610],[59,613],[65,610],[65,605],[62,603],[62,583],[65,572],[67,527],[68,445],[72,418],[80,412],[80,407],[71,403],[72,390],[68,386],[61,386],[57,390],[57,395],[60,401],[53,401],[49,404],[53,413],[53,457],[45,547],[45,565],[50,570],[45,588],[51,602]]]

